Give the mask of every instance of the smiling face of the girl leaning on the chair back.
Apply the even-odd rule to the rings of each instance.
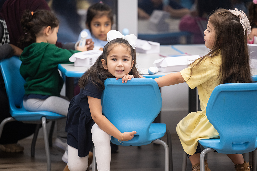
[[[109,55],[105,59],[102,59],[104,69],[108,69],[116,78],[122,78],[127,75],[133,64],[132,56],[127,47],[122,45],[114,45],[115,47],[110,51]],[[107,62],[107,65],[106,65]]]

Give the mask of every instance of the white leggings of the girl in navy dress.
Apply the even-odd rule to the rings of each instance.
[[[111,164],[111,135],[104,132],[96,124],[91,129],[98,171],[109,171]],[[85,171],[88,156],[78,157],[78,150],[68,145],[68,168],[70,171]]]

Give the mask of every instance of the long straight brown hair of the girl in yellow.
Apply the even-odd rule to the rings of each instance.
[[[221,54],[220,84],[252,82],[247,31],[244,33],[239,16],[220,8],[209,17],[209,22],[216,33],[214,46],[207,55],[191,64],[191,75],[205,59]]]

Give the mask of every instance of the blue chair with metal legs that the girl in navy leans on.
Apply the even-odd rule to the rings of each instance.
[[[132,78],[127,83],[121,79],[108,78],[104,82],[102,94],[102,112],[121,132],[136,131],[134,138],[123,141],[123,146],[142,146],[150,143],[164,146],[164,168],[172,170],[171,136],[166,124],[152,124],[161,111],[162,99],[158,84],[152,78]],[[167,134],[168,145],[160,140]],[[114,137],[111,142],[121,143]],[[169,151],[170,149],[170,151]],[[93,152],[92,170],[96,171],[95,153]],[[169,161],[171,167],[169,168]]]

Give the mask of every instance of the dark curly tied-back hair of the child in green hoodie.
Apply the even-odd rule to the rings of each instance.
[[[21,18],[21,28],[24,31],[18,41],[18,45],[22,48],[36,42],[36,35],[47,26],[51,29],[57,27],[59,21],[57,17],[49,10],[39,9],[34,12],[26,10]]]

